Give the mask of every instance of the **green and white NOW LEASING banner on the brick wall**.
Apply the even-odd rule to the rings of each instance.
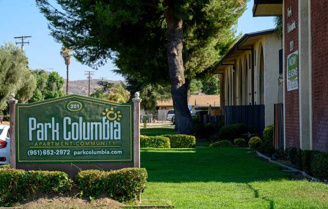
[[[298,51],[287,57],[287,90],[298,89]]]

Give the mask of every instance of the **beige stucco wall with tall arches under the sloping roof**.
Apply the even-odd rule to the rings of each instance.
[[[281,40],[275,34],[259,37],[259,40],[253,45],[255,49],[254,66],[254,101],[260,104],[260,92],[264,91],[265,104],[265,125],[271,125],[274,122],[274,103],[278,102],[278,78],[279,78],[279,49],[281,49]],[[260,89],[260,49],[264,51],[264,89]],[[245,51],[236,58],[236,103],[235,105],[247,105],[252,102],[252,65],[251,51]],[[225,105],[233,105],[233,72],[232,66],[227,66],[225,73]],[[246,76],[247,74],[247,76]],[[240,79],[240,76],[241,79]],[[247,77],[247,79],[246,79]],[[242,81],[240,83],[240,81]],[[241,88],[240,88],[241,86]],[[242,96],[241,96],[242,95]]]

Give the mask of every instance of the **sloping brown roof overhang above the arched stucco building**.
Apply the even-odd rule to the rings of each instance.
[[[222,57],[222,59],[213,68],[213,73],[221,73],[227,66],[235,65],[235,60],[242,55],[245,50],[253,50],[254,44],[261,38],[261,36],[274,34],[275,29],[259,31],[255,33],[248,33],[243,35],[232,48]]]

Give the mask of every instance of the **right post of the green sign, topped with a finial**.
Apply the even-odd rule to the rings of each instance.
[[[140,93],[135,92],[133,101],[133,165],[136,168],[140,168]]]

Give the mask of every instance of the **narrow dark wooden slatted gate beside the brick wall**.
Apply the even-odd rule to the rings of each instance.
[[[284,109],[283,103],[275,104],[275,123],[273,134],[273,146],[276,150],[284,149]]]

